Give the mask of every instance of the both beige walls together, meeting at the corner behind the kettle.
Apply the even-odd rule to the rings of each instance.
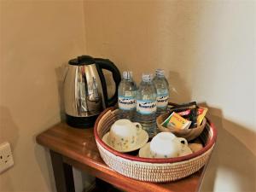
[[[84,53],[84,39],[88,54],[131,69],[137,82],[164,68],[173,102],[210,107],[218,145],[201,191],[256,190],[255,2],[0,3],[0,143],[15,157],[0,191],[55,191],[35,136],[60,120],[61,66]]]

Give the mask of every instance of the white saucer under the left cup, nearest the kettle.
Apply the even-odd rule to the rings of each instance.
[[[104,143],[106,143],[109,147],[113,148],[109,143],[108,143],[108,136],[109,136],[109,131],[102,137],[102,141]],[[131,152],[131,151],[135,151],[139,148],[142,148],[143,145],[145,145],[148,142],[148,132],[142,130],[140,135],[138,135],[138,140],[137,140],[137,145],[133,146],[132,148],[127,148],[125,150],[117,150],[115,148],[115,150],[119,151],[119,152]]]

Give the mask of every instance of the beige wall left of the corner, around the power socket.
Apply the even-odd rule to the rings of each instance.
[[[0,143],[10,142],[15,160],[0,191],[55,191],[35,137],[60,120],[61,66],[84,53],[82,2],[0,2]]]

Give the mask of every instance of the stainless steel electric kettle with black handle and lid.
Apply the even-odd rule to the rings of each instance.
[[[103,109],[117,102],[119,69],[108,59],[81,55],[68,62],[64,79],[64,105],[67,124],[78,128],[94,125]],[[102,69],[112,73],[115,92],[108,98],[108,88]]]

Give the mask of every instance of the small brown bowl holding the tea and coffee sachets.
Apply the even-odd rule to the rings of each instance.
[[[158,129],[162,132],[172,132],[175,134],[177,137],[183,137],[187,139],[188,141],[191,141],[195,139],[196,137],[199,137],[201,132],[204,130],[205,126],[207,125],[207,119],[203,119],[201,122],[201,125],[191,128],[191,129],[185,129],[185,130],[179,130],[179,129],[171,129],[171,128],[166,128],[161,125],[161,123],[166,120],[166,118],[170,115],[170,113],[164,113],[161,114],[157,119],[156,119],[156,124],[158,126]]]

